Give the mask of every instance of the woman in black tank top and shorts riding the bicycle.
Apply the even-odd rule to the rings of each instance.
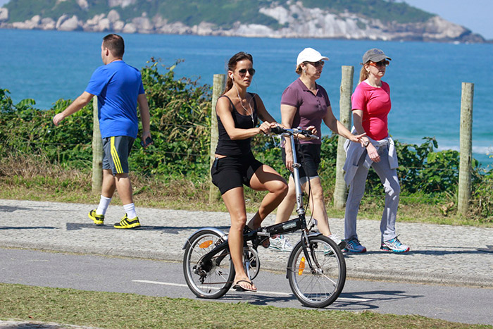
[[[231,228],[228,236],[231,259],[235,266],[233,287],[237,290],[256,291],[243,267],[243,232],[246,225],[246,206],[243,185],[256,191],[268,191],[249,228],[260,227],[261,222],[280,204],[287,194],[287,183],[273,168],[257,161],[251,152],[251,137],[268,134],[277,125],[260,97],[246,92],[255,74],[254,60],[243,51],[232,56],[227,64],[225,92],[216,104],[219,139],[216,159],[211,168],[212,182],[223,197],[230,213]],[[258,118],[263,123],[257,125]]]

